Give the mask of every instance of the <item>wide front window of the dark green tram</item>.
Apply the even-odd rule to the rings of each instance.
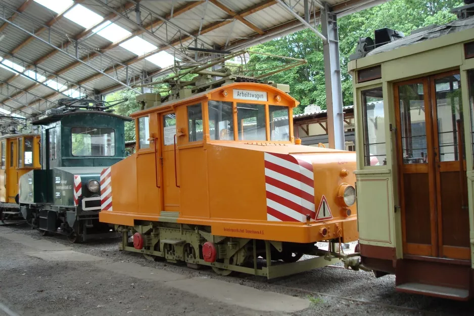
[[[71,128],[73,156],[114,156],[115,131],[113,128]]]

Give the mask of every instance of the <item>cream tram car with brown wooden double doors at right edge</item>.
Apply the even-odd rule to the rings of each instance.
[[[348,65],[362,264],[401,292],[474,293],[474,16]]]

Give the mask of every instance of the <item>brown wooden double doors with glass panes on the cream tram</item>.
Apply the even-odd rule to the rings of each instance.
[[[459,72],[394,86],[403,251],[470,259]]]

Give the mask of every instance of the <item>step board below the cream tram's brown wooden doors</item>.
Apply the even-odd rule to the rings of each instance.
[[[437,296],[460,301],[467,301],[469,299],[468,290],[450,288],[446,286],[437,286],[422,283],[404,283],[397,285],[395,289],[398,292]]]

